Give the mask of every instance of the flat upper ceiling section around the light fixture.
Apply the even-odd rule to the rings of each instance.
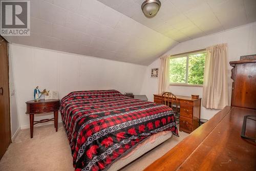
[[[141,11],[145,0],[98,0],[178,42],[256,21],[255,0],[160,0],[153,18]]]

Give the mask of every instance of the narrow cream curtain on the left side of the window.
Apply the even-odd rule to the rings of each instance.
[[[169,87],[169,55],[160,57],[160,68],[158,77],[158,93],[168,91]]]

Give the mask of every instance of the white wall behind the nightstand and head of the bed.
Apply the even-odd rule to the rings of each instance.
[[[146,66],[11,45],[18,115],[22,129],[29,127],[25,102],[33,99],[33,90],[56,90],[59,98],[76,90],[115,89],[139,94]],[[36,116],[35,120],[50,118]],[[60,115],[59,115],[60,121]]]

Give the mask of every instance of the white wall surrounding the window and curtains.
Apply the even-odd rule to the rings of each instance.
[[[193,40],[185,41],[174,48],[170,49],[165,54],[174,55],[199,49],[204,49],[208,46],[227,43],[228,44],[228,88],[229,102],[231,98],[231,68],[229,61],[239,60],[242,55],[256,54],[256,23],[241,26],[239,28],[227,30],[208,36],[199,37]],[[150,101],[153,101],[153,94],[157,93],[158,79],[150,78],[151,68],[159,67],[159,59],[154,61],[147,67],[146,75],[143,82],[142,94],[146,94]],[[169,90],[174,94],[191,96],[198,94],[202,97],[203,88],[201,87],[182,87],[169,86]],[[214,116],[219,110],[206,110],[202,107],[201,118],[209,119]]]

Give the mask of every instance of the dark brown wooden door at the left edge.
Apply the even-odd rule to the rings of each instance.
[[[1,41],[3,40],[3,41]],[[7,42],[0,36],[0,159],[11,143]]]

